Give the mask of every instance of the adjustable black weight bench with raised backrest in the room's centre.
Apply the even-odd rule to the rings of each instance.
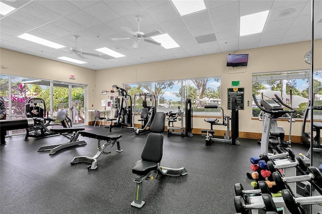
[[[132,168],[132,173],[137,177],[133,180],[135,183],[134,200],[132,206],[141,208],[145,201],[142,200],[143,180],[152,180],[152,174],[160,172],[163,175],[180,176],[188,174],[187,170],[182,167],[178,169],[171,169],[160,166],[160,161],[163,154],[163,132],[165,130],[166,114],[158,112],[155,114],[152,124],[150,126],[151,133],[148,134],[145,145],[141,154],[142,160],[135,163]]]

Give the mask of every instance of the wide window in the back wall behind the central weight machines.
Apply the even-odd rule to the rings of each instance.
[[[166,109],[169,108],[184,109],[185,100],[190,98],[194,114],[219,113],[217,109],[205,109],[204,105],[220,105],[220,77],[126,83],[124,88],[130,88],[128,94],[132,99],[136,93],[153,93],[156,97],[156,107],[161,112],[167,112]]]

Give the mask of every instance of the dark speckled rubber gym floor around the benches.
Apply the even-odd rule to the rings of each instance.
[[[109,133],[104,127],[86,128]],[[167,137],[164,133],[162,166],[183,166],[188,175],[159,175],[143,181],[145,204],[132,207],[136,175],[131,169],[140,160],[147,134],[136,136],[125,128],[113,128],[111,134],[122,134],[123,152],[115,152],[116,145],[106,148],[112,153],[102,154],[98,168],[90,171],[89,164],[70,165],[70,161],[75,156],[93,157],[96,139],[79,136],[86,146],[49,155],[49,151],[37,152],[38,148],[68,139],[7,138],[7,145],[0,147],[0,213],[234,213],[234,184],[252,188],[246,172],[251,171],[250,157],[260,154],[257,141],[239,139],[237,147],[225,143],[205,146],[201,135]],[[292,149],[295,154],[306,154],[308,148],[294,144]]]

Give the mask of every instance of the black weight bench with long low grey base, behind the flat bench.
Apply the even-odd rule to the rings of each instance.
[[[84,130],[85,128],[52,128],[50,129],[50,132],[64,136],[65,138],[69,139],[69,142],[63,144],[41,146],[38,149],[38,152],[50,150],[49,155],[53,155],[64,148],[77,145],[86,145],[87,143],[85,141],[78,141],[79,132]]]

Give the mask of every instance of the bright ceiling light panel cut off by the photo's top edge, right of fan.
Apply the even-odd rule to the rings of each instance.
[[[206,10],[203,0],[172,0],[181,16]]]

